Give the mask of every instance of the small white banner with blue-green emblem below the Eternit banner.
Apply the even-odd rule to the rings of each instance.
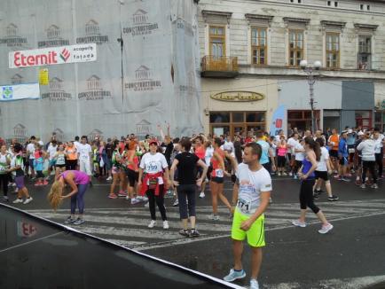
[[[39,83],[0,86],[0,101],[40,98]]]

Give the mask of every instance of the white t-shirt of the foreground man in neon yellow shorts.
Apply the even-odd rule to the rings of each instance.
[[[261,205],[261,192],[272,190],[271,176],[266,168],[253,172],[245,163],[238,166],[235,176],[240,180],[237,209],[244,215],[253,215]]]

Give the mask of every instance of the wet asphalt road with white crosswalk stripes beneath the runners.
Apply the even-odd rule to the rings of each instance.
[[[87,222],[77,230],[215,277],[224,277],[232,267],[231,219],[221,207],[221,220],[208,220],[208,190],[205,199],[197,200],[201,236],[192,239],[178,235],[178,211],[171,206],[171,198],[166,199],[170,229],[163,230],[159,221],[151,230],[146,226],[150,219],[148,208],[143,204],[130,206],[125,199],[107,199],[109,184],[97,180],[94,184],[86,192]],[[299,214],[299,182],[288,177],[274,178],[273,203],[266,213],[267,246],[259,278],[263,288],[385,288],[385,283],[381,284],[385,282],[385,185],[380,182],[378,190],[362,190],[353,182],[332,184],[340,200],[328,202],[323,194],[317,204],[334,224],[334,230],[320,235],[320,225],[311,212],[308,227],[295,228],[290,224]],[[15,207],[62,223],[68,215],[69,202],[54,214],[46,201],[49,187],[28,187],[34,201]],[[231,191],[227,182],[225,195],[229,199]],[[158,216],[160,220],[159,213]],[[248,246],[243,262],[248,273]],[[248,277],[239,285],[248,285]]]

